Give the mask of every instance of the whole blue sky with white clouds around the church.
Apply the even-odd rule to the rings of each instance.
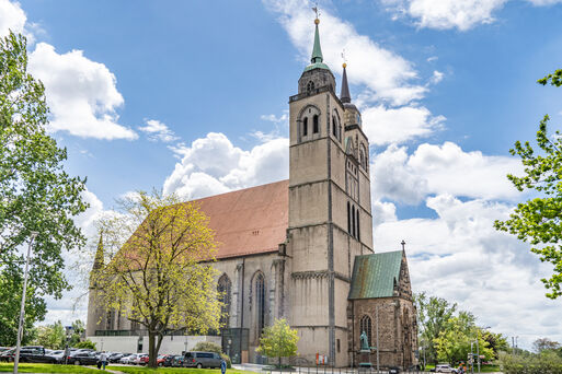
[[[88,176],[92,222],[124,194],[185,199],[288,176],[288,96],[307,65],[312,4],[264,1],[0,0],[0,34],[30,37],[67,170]],[[458,302],[482,326],[562,340],[551,270],[492,229],[525,197],[508,149],[562,119],[562,1],[321,1],[325,62],[371,142],[375,249],[408,243],[415,291]],[[70,296],[69,296],[70,297]],[[72,314],[49,301],[48,320]]]

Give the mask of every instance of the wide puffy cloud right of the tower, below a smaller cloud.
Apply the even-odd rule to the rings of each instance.
[[[523,172],[516,159],[464,152],[452,142],[423,143],[411,155],[405,147],[390,145],[372,157],[371,171],[374,197],[410,204],[431,194],[514,199],[519,192],[506,175]]]

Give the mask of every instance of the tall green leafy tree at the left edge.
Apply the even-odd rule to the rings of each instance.
[[[24,255],[32,231],[26,327],[44,318],[43,296],[60,297],[69,288],[61,269],[62,249],[84,243],[73,217],[87,204],[85,179],[62,167],[67,151],[46,133],[45,89],[27,73],[26,40],[10,33],[0,38],[0,344],[15,341]]]

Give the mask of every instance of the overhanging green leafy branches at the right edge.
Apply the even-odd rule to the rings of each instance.
[[[562,70],[538,81],[546,85],[562,85]],[[517,235],[517,238],[531,244],[531,252],[540,256],[541,261],[551,262],[554,267],[550,279],[542,279],[544,287],[551,292],[550,299],[562,295],[562,137],[560,131],[549,138],[547,125],[550,120],[544,115],[537,131],[537,145],[534,149],[528,141],[515,142],[509,150],[518,155],[525,166],[525,175],[507,178],[519,191],[534,190],[537,197],[518,203],[514,213],[506,221],[496,221],[497,230]]]

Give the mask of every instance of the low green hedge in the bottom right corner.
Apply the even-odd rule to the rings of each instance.
[[[527,358],[501,354],[504,374],[562,374],[562,359],[557,354],[535,354]]]

